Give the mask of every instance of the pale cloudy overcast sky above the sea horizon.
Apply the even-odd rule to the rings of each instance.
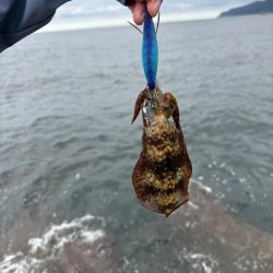
[[[164,0],[162,22],[216,17],[222,11],[253,0]],[[116,26],[130,20],[130,11],[116,0],[72,0],[59,8],[46,31]]]

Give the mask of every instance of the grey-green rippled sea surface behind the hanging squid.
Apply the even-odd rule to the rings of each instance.
[[[191,202],[146,211],[141,35],[35,34],[0,56],[0,272],[273,272],[273,16],[158,31],[193,165]]]

